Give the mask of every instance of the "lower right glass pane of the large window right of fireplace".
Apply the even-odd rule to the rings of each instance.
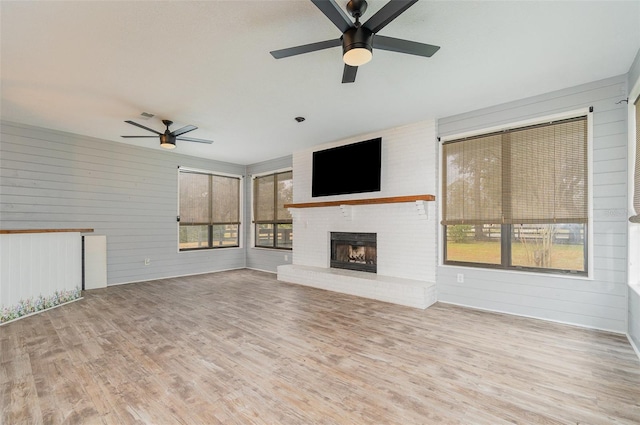
[[[555,270],[585,271],[585,225],[514,225],[511,264]]]

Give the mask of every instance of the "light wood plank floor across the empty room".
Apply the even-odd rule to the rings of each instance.
[[[0,327],[2,424],[638,424],[625,336],[238,270]]]

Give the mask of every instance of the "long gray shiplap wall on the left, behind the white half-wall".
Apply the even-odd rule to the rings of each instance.
[[[178,252],[176,222],[178,166],[236,175],[245,166],[1,124],[3,229],[93,228],[107,236],[110,285],[245,267],[244,247]]]

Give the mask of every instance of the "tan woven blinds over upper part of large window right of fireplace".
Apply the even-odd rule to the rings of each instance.
[[[586,116],[452,140],[443,156],[444,225],[588,221]]]

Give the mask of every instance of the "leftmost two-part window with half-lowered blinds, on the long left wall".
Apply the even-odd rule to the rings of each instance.
[[[240,178],[179,170],[180,251],[240,246]]]

